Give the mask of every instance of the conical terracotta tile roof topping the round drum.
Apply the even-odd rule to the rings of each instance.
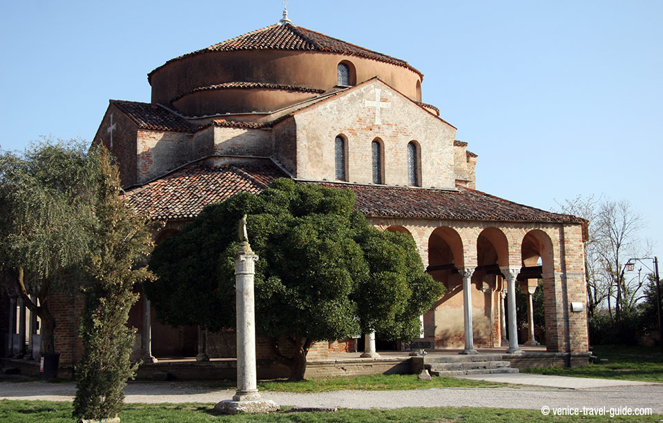
[[[423,77],[423,73],[410,66],[407,61],[396,59],[395,57],[387,56],[373,50],[368,50],[367,48],[329,37],[320,32],[290,24],[275,24],[267,26],[266,28],[251,31],[247,34],[240,35],[239,37],[214,44],[208,48],[203,48],[202,50],[197,50],[180,57],[175,57],[175,59],[166,61],[164,65],[203,52],[233,50],[313,50],[333,52],[341,55],[366,57],[367,59],[403,66]],[[162,66],[150,72],[148,74],[148,79],[151,78],[156,70],[162,68]]]

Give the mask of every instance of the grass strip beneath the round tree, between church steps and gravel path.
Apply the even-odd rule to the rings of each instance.
[[[301,382],[260,382],[261,391],[281,392],[329,392],[356,389],[361,391],[399,391],[428,388],[502,388],[509,386],[481,380],[432,377],[432,380],[416,380],[416,375],[365,375],[354,377],[318,377]]]

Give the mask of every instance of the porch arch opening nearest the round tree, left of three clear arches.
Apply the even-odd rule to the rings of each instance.
[[[426,272],[446,288],[444,295],[423,316],[424,335],[434,337],[436,348],[459,348],[464,343],[463,241],[456,230],[441,226],[428,237]]]

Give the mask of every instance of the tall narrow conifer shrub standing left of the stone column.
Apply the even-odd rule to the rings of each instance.
[[[94,221],[83,285],[85,308],[79,335],[83,354],[76,366],[74,417],[103,419],[122,410],[122,389],[133,379],[137,364],[129,356],[135,329],[128,328],[129,310],[137,300],[136,282],[151,279],[146,256],[153,247],[148,219],[127,208],[120,197],[119,173],[103,146],[95,148]],[[141,264],[142,263],[142,264]]]

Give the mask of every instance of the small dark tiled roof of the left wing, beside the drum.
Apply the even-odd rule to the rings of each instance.
[[[184,119],[160,106],[137,101],[111,100],[138,128],[190,132],[191,127]]]

